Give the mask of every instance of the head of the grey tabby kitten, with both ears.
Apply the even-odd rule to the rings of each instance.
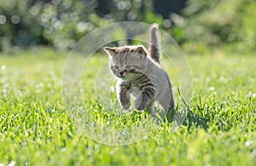
[[[115,77],[132,80],[141,76],[147,59],[143,46],[105,47],[109,55],[108,67]]]

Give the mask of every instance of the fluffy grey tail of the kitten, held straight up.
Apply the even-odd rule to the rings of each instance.
[[[160,64],[160,33],[158,24],[153,24],[149,29],[149,54],[151,58]]]

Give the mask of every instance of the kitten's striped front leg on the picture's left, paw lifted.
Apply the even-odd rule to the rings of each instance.
[[[117,96],[119,103],[124,110],[128,110],[131,106],[131,97],[129,89],[124,84],[119,84],[117,86]]]

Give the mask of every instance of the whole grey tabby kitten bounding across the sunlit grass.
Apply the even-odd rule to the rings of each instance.
[[[118,79],[116,91],[119,103],[128,110],[131,106],[130,94],[133,94],[137,110],[149,109],[154,115],[154,101],[158,101],[165,111],[174,111],[171,82],[160,66],[157,24],[149,29],[148,49],[143,45],[104,48],[109,55],[109,69]]]

